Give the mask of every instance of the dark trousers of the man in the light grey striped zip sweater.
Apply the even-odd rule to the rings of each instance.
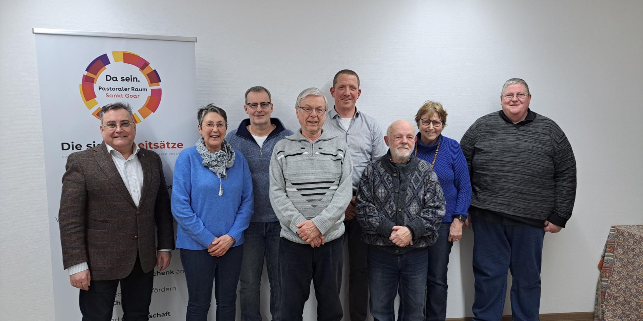
[[[311,280],[317,299],[317,320],[341,320],[344,315],[340,302],[343,245],[343,236],[316,248],[280,240],[282,320],[302,320],[303,305],[311,293]]]

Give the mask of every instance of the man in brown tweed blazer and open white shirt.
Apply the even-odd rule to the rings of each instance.
[[[106,105],[100,118],[104,143],[69,155],[62,177],[62,261],[82,320],[111,320],[119,283],[123,319],[148,320],[154,266],[167,268],[174,249],[163,166],[134,143],[129,105]]]

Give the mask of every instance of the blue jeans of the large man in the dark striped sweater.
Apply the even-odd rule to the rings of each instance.
[[[473,218],[473,320],[502,317],[511,270],[512,320],[539,320],[540,266],[545,231],[529,225],[502,225]]]

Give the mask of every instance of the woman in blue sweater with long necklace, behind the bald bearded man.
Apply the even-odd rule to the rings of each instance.
[[[446,198],[446,215],[438,230],[438,240],[429,247],[424,317],[427,321],[446,318],[449,254],[453,242],[462,238],[462,225],[469,216],[467,210],[471,203],[467,160],[458,142],[442,135],[446,116],[442,104],[433,101],[426,101],[415,114],[419,133],[413,154],[433,166]]]

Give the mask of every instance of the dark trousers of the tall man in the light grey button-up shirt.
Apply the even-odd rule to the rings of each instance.
[[[349,243],[349,315],[351,321],[366,320],[368,309],[368,245],[361,239],[356,219],[344,221]]]

